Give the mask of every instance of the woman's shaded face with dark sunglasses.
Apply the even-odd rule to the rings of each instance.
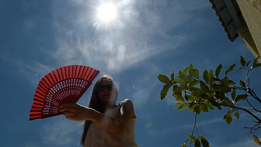
[[[101,80],[97,87],[98,96],[103,103],[116,103],[117,89],[113,81]]]

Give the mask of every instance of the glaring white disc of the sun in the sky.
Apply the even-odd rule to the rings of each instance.
[[[116,6],[113,4],[103,4],[99,9],[98,9],[98,17],[102,21],[111,21],[116,18]]]

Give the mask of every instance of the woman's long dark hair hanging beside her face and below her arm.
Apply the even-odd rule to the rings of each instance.
[[[109,81],[112,81],[113,78],[111,76],[108,76],[108,75],[102,75],[94,84],[93,86],[93,90],[92,90],[92,93],[91,93],[91,98],[90,98],[90,102],[89,102],[89,106],[88,108],[93,108],[94,110],[100,112],[100,113],[104,113],[104,108],[103,108],[103,105],[102,105],[102,102],[101,100],[99,99],[98,95],[97,95],[97,92],[96,92],[96,89],[97,87],[99,86],[100,84],[100,81],[101,80],[109,80]],[[118,95],[118,91],[117,91],[117,95]],[[88,132],[88,129],[90,127],[90,124],[91,124],[92,121],[90,120],[85,120],[83,122],[83,129],[82,129],[82,136],[81,136],[81,140],[80,140],[80,143],[79,145],[84,145],[85,143],[85,138],[86,138],[86,135],[87,135],[87,132]]]

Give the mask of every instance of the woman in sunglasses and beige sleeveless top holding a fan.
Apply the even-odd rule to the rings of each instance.
[[[81,144],[84,147],[134,147],[136,114],[133,103],[125,99],[116,105],[118,90],[111,76],[101,76],[93,86],[88,107],[64,103],[60,111],[67,119],[84,121]]]

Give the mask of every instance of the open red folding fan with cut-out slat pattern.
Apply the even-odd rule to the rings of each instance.
[[[83,65],[69,65],[45,75],[37,85],[29,121],[63,114],[63,103],[76,103],[100,71]]]

